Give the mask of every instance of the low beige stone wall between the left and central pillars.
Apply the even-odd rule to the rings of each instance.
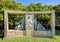
[[[25,36],[25,31],[23,30],[8,30],[7,32],[7,38],[23,36]]]

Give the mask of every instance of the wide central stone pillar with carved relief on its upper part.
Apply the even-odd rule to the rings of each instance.
[[[26,36],[32,37],[34,32],[34,14],[25,14]]]

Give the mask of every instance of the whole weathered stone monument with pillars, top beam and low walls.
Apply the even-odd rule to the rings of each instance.
[[[20,30],[9,30],[9,24],[8,24],[8,13],[13,14],[25,14],[25,31]],[[34,31],[34,14],[41,14],[41,13],[52,13],[51,14],[51,31]],[[10,37],[23,37],[23,36],[52,36],[55,37],[55,11],[41,11],[41,12],[22,12],[22,11],[4,11],[4,37],[10,38]]]

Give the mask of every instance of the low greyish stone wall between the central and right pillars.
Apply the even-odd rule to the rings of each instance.
[[[51,37],[51,31],[34,31],[34,36],[36,37]]]

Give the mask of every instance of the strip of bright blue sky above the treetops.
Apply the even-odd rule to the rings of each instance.
[[[60,0],[15,0],[16,2],[20,2],[23,5],[29,5],[31,3],[42,3],[42,5],[57,5],[60,4]]]

